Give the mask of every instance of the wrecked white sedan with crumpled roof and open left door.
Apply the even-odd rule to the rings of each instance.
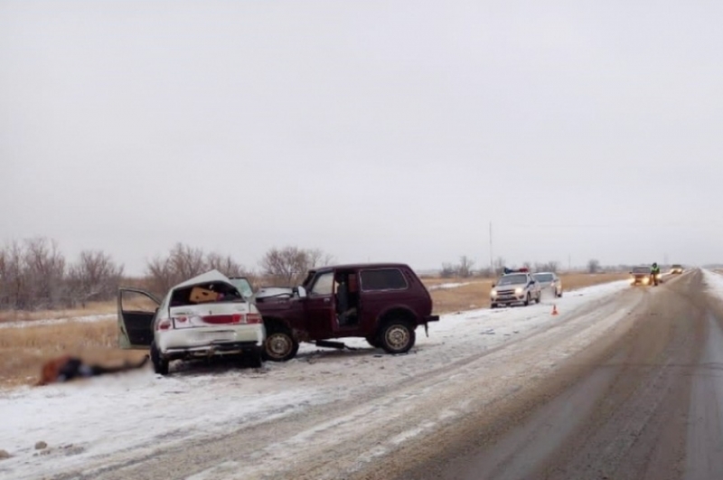
[[[230,278],[211,270],[171,288],[159,301],[137,288],[118,290],[118,344],[150,348],[156,373],[174,360],[236,355],[260,367],[266,329],[258,309]]]

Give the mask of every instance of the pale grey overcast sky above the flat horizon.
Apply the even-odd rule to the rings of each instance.
[[[0,1],[0,241],[723,259],[723,3]]]

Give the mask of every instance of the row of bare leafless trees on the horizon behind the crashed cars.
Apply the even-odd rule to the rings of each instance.
[[[179,242],[147,261],[142,278],[128,278],[124,266],[105,251],[83,250],[69,260],[55,240],[14,240],[0,247],[0,310],[83,307],[116,298],[121,285],[163,296],[170,287],[212,268],[229,277],[247,277],[257,286],[294,286],[309,269],[333,261],[321,249],[274,247],[258,261],[258,268],[246,268],[230,255]]]

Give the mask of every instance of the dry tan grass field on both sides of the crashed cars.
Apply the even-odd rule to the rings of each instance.
[[[566,291],[626,278],[624,274],[561,275]],[[435,313],[446,314],[490,305],[492,280],[462,278],[425,278],[427,287],[445,283],[468,283],[455,288],[431,291]],[[113,314],[116,303],[107,302],[79,310],[33,312],[27,315],[4,315],[5,321],[71,318],[84,315]],[[0,329],[0,388],[30,385],[38,379],[42,362],[61,354],[80,356],[87,362],[117,364],[139,360],[145,351],[117,348],[115,320],[68,322],[55,325],[26,325]]]

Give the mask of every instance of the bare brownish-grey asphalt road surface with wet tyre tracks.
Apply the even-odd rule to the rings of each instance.
[[[621,308],[641,301],[606,340],[494,415],[418,445],[416,465],[386,467],[445,480],[723,479],[723,308],[704,290],[700,271],[631,288]]]

